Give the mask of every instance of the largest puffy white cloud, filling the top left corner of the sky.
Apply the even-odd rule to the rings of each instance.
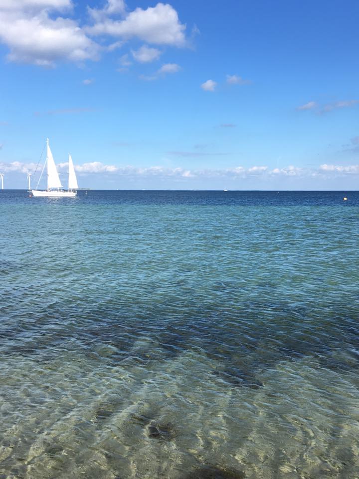
[[[10,49],[8,59],[41,66],[54,66],[58,60],[96,59],[98,45],[76,21],[49,16],[48,10],[71,5],[69,0],[1,1],[0,41]]]

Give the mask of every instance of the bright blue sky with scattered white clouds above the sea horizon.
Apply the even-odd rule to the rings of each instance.
[[[0,173],[357,190],[357,0],[0,0]],[[43,183],[39,188],[44,187]]]

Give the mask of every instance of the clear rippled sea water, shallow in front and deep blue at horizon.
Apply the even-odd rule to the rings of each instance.
[[[0,479],[358,479],[359,192],[0,217]]]

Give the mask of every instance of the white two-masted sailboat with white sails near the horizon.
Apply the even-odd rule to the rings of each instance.
[[[48,138],[46,140],[46,160],[42,168],[42,172],[37,182],[35,190],[31,190],[32,195],[36,197],[50,197],[50,198],[75,198],[76,190],[78,190],[77,178],[75,168],[73,166],[71,155],[69,155],[69,171],[68,171],[68,190],[64,190],[59,175],[56,170],[56,165],[50,150]],[[47,165],[47,190],[38,190],[38,184],[40,183],[42,173]]]

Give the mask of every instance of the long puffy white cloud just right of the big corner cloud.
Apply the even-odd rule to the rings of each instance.
[[[146,10],[138,7],[123,20],[105,18],[87,28],[93,35],[137,37],[148,43],[176,46],[184,46],[184,30],[185,25],[180,23],[177,11],[164,3]]]

